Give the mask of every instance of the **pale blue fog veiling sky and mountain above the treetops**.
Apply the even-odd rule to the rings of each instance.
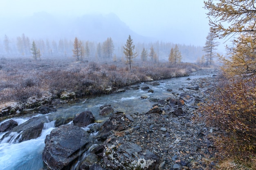
[[[146,43],[148,49],[154,43],[168,43],[164,55],[173,44],[186,46],[181,51],[193,53],[194,60],[202,55],[195,51],[204,46],[209,33],[203,7],[203,0],[2,0],[0,51],[4,54],[5,35],[16,55],[17,37],[23,35],[30,43],[48,40],[58,45],[60,40],[70,42],[77,37],[94,42],[92,46],[111,37],[115,54],[121,55],[130,34],[135,44]],[[191,46],[195,47],[193,51],[188,50]]]

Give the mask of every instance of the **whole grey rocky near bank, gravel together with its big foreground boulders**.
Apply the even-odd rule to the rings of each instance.
[[[207,73],[202,71],[202,74]],[[72,164],[81,157],[77,153],[81,155],[87,153],[87,156],[83,156],[83,160],[78,161],[76,169],[213,169],[218,161],[213,159],[217,151],[211,136],[214,136],[218,129],[209,128],[205,124],[193,121],[197,104],[203,102],[207,97],[213,80],[214,77],[195,79],[188,84],[186,89],[182,89],[184,93],[175,93],[175,97],[154,99],[156,104],[147,113],[125,115],[111,110],[110,105],[102,107],[102,110],[104,108],[111,110],[110,118],[102,126],[94,124],[85,128],[87,132],[99,130],[93,135],[93,139],[97,139],[95,140],[97,146],[93,145],[92,137],[87,137],[85,139],[87,141],[83,140],[83,144],[79,143],[81,148],[69,150],[67,154],[71,155],[68,157],[69,159],[72,157],[72,159],[68,163],[66,161],[64,163],[56,162],[56,160],[61,160],[59,157],[63,157],[62,153],[56,152],[56,148],[65,150],[65,147],[69,149],[72,147],[66,146],[66,143],[59,140],[61,136],[54,136],[54,133],[72,133],[72,129],[75,128],[72,124],[60,126],[51,132],[51,135],[47,135],[43,161],[51,170],[55,170],[56,165],[63,170],[70,169],[70,167],[74,168]],[[83,117],[91,116],[83,113]],[[81,134],[83,133],[81,132]],[[87,135],[83,135],[83,138],[86,138]],[[71,138],[67,134],[64,136],[65,141],[71,145],[72,139],[75,139],[76,143],[79,141],[76,139],[76,135],[71,135]],[[92,150],[90,154],[88,154],[88,150]],[[60,164],[62,165],[60,166]],[[54,165],[55,168],[53,168]]]

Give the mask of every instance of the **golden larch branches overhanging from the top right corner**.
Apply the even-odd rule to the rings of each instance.
[[[219,55],[225,64],[223,69],[231,76],[252,77],[256,75],[255,34],[256,4],[254,0],[208,0],[204,8],[209,10],[211,30],[218,38],[230,40],[228,57]],[[234,36],[235,35],[235,36]]]

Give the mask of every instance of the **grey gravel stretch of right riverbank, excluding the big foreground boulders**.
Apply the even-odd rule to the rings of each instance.
[[[214,169],[218,164],[214,159],[218,151],[213,137],[218,129],[193,121],[193,115],[197,114],[197,104],[209,94],[217,72],[207,70],[195,74],[211,74],[213,77],[195,79],[183,89],[184,93],[175,94],[175,98],[158,99],[147,113],[130,115],[132,122],[128,126],[132,132],[117,133],[117,142],[111,144],[118,146],[118,142],[124,140],[137,144],[141,150],[150,150],[161,160],[159,170]],[[104,159],[101,166],[108,169]]]

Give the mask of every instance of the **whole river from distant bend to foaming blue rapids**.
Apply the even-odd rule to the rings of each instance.
[[[110,95],[104,95],[99,97],[83,99],[79,103],[71,104],[69,106],[63,106],[58,108],[54,113],[47,115],[38,114],[36,116],[50,116],[55,115],[66,115],[67,113],[78,114],[85,110],[90,110],[96,120],[106,120],[108,117],[99,115],[99,108],[104,104],[111,104],[115,110],[122,111],[126,114],[132,113],[146,113],[150,110],[151,106],[156,102],[152,102],[150,98],[162,98],[162,97],[175,97],[177,93],[186,92],[186,87],[191,82],[200,77],[212,76],[211,73],[191,75],[188,77],[177,77],[166,80],[159,80],[160,85],[151,86],[149,84],[138,84],[141,86],[149,86],[154,93],[148,93],[148,90],[137,90],[130,89],[122,93],[113,93]],[[189,79],[188,79],[189,78]],[[171,88],[172,91],[168,92],[167,89]],[[183,88],[183,90],[181,89]],[[141,96],[147,96],[147,99],[141,99]],[[18,124],[29,120],[31,117],[17,117],[12,118],[17,121]],[[7,120],[5,120],[7,121]],[[0,122],[2,124],[4,121]],[[42,160],[42,152],[44,149],[44,141],[46,135],[54,129],[54,122],[45,123],[43,131],[40,137],[23,141],[18,143],[15,140],[7,142],[3,139],[0,141],[0,170],[40,170],[44,168]],[[0,132],[0,139],[3,137],[5,132]]]

